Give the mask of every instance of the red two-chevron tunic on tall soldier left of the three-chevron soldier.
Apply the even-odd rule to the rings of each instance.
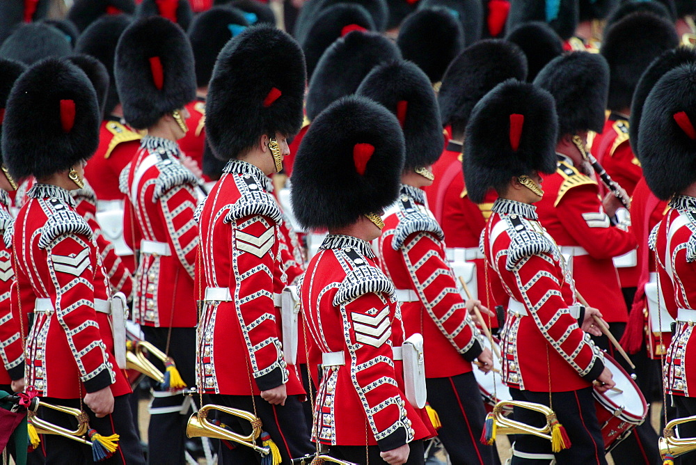
[[[267,179],[252,164],[231,161],[200,208],[196,288],[205,304],[197,370],[207,393],[259,395],[285,383],[289,395],[304,393],[283,355],[282,214]]]

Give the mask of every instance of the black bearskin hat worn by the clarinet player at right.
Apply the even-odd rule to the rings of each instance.
[[[609,66],[603,56],[573,52],[554,58],[534,84],[553,95],[559,139],[578,132],[602,132],[609,92]]]

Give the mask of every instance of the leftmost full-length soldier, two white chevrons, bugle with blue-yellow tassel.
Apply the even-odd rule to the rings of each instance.
[[[32,175],[36,182],[14,223],[17,292],[10,299],[26,337],[26,386],[35,386],[45,402],[83,409],[96,432],[119,434],[109,463],[143,464],[128,406],[130,387],[117,364],[125,340],[116,344],[125,327],[115,312],[122,317],[124,310],[109,292],[93,230],[75,212],[70,194],[83,185],[82,167],[97,148],[99,120],[93,86],[69,61],[42,61],[13,87],[3,159],[13,177]],[[30,314],[31,328],[23,326]],[[65,413],[44,409],[40,415],[70,427]],[[56,435],[44,441],[48,463],[92,459],[92,451],[77,441]]]

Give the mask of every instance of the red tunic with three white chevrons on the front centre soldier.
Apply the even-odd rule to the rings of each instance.
[[[392,347],[404,342],[404,328],[393,294],[370,244],[356,237],[329,235],[310,261],[301,290],[308,331],[320,352],[345,360],[324,367],[315,441],[391,450],[430,435],[400,387]]]

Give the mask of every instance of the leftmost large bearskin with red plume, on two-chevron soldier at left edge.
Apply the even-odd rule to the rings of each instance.
[[[26,70],[8,98],[2,152],[16,180],[63,171],[99,145],[99,104],[87,75],[62,58]]]

